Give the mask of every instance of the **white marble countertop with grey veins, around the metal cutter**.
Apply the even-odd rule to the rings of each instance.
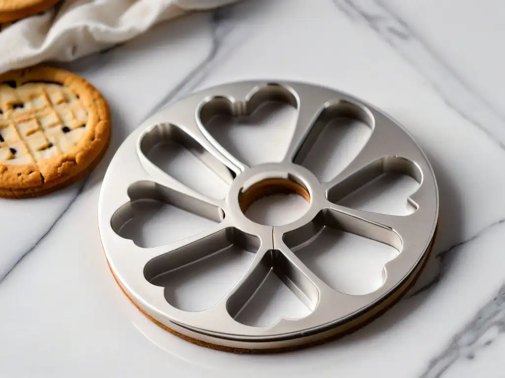
[[[248,0],[65,65],[109,101],[113,141],[86,180],[0,201],[0,375],[503,376],[503,12],[498,0]],[[100,244],[100,182],[126,136],[166,103],[244,79],[377,105],[438,180],[439,235],[416,288],[362,330],[299,352],[233,355],[170,335],[118,290]]]

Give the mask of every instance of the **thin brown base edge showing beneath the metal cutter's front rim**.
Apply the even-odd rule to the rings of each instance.
[[[424,268],[426,267],[426,264],[431,256],[431,251],[433,248],[433,244],[435,242],[436,234],[438,231],[438,225],[435,227],[435,231],[433,233],[433,237],[431,239],[430,244],[428,245],[428,250],[426,254],[423,256],[423,260],[418,264],[416,269],[411,273],[409,277],[403,283],[388,297],[384,298],[380,303],[378,303],[375,307],[371,308],[367,312],[364,312],[360,315],[358,315],[356,318],[349,320],[347,323],[344,323],[340,326],[337,326],[335,328],[332,328],[327,331],[323,331],[321,333],[325,333],[325,335],[322,335],[320,338],[318,338],[316,341],[311,341],[311,342],[301,342],[299,345],[294,345],[294,346],[287,346],[287,347],[280,347],[280,348],[270,348],[270,349],[246,349],[246,348],[234,348],[230,346],[224,346],[224,345],[217,345],[217,344],[212,344],[209,342],[201,341],[186,335],[181,334],[180,332],[177,332],[163,323],[157,321],[153,317],[151,317],[147,312],[145,312],[138,304],[135,302],[135,300],[128,295],[126,290],[123,288],[121,283],[119,282],[118,278],[112,271],[112,268],[109,264],[109,261],[107,261],[107,265],[109,266],[109,270],[112,273],[112,276],[114,277],[114,280],[116,283],[119,285],[121,291],[126,295],[126,297],[137,307],[137,309],[142,312],[151,322],[155,323],[157,326],[163,328],[164,330],[170,332],[171,334],[178,336],[186,341],[189,341],[192,344],[196,344],[199,346],[203,346],[206,348],[210,349],[215,349],[215,350],[220,350],[223,352],[231,352],[231,353],[236,353],[236,354],[242,354],[242,353],[251,353],[251,354],[265,354],[265,353],[282,353],[282,352],[290,352],[293,350],[299,350],[299,349],[304,349],[316,345],[323,344],[328,341],[336,340],[339,339],[343,336],[346,336],[348,334],[351,334],[352,332],[355,332],[362,327],[368,325],[375,319],[379,318],[382,316],[388,309],[390,309],[393,305],[395,305],[402,297],[405,295],[416,283],[417,279],[423,272]],[[106,257],[107,260],[107,257]],[[317,334],[316,334],[317,335]]]

